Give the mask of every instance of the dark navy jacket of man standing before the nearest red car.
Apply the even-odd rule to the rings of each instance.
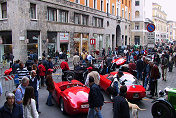
[[[101,107],[104,103],[104,97],[98,85],[95,83],[90,87],[88,97],[89,108]]]

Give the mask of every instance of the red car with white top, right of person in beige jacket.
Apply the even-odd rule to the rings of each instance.
[[[100,75],[100,87],[106,91],[117,76],[116,74],[117,72],[111,72],[107,75]],[[146,96],[145,88],[140,85],[139,81],[132,74],[123,72],[123,76],[120,78],[119,84],[123,81],[127,86],[127,99],[140,100]]]

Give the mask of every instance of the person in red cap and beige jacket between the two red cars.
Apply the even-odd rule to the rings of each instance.
[[[88,86],[89,85],[89,77],[93,77],[94,78],[94,81],[95,81],[95,84],[99,85],[100,83],[100,75],[97,71],[93,71],[93,67],[88,67],[87,68],[88,70],[88,75],[87,75],[87,78],[86,78],[86,81],[85,81],[85,85]]]

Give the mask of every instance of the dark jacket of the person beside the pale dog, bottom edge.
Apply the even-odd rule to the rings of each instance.
[[[123,96],[114,97],[113,118],[130,118],[129,105]]]

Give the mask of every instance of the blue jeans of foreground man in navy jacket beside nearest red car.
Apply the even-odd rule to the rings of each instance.
[[[103,118],[100,107],[98,107],[98,112],[95,111],[95,108],[89,108],[87,118]]]

